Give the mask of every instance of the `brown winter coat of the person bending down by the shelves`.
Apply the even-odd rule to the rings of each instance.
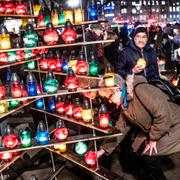
[[[136,86],[136,84],[139,85]],[[116,128],[124,135],[105,141],[101,148],[111,153],[129,131],[130,128],[126,124],[126,121],[129,121],[141,129],[132,144],[134,152],[137,152],[142,143],[148,140],[157,141],[157,155],[180,151],[180,106],[169,102],[166,94],[159,88],[147,84],[142,76],[135,78],[135,86],[136,94],[133,94],[133,98],[128,103],[128,109],[123,110],[116,122]]]

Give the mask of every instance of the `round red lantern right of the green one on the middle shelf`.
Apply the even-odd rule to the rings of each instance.
[[[71,67],[68,69],[68,74],[65,79],[64,85],[70,92],[77,91],[79,81],[77,77],[75,76],[74,71],[72,70]]]

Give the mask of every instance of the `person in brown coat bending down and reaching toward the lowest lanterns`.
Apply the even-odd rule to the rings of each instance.
[[[123,133],[123,136],[105,139],[98,157],[111,154],[120,145],[134,156],[133,163],[140,165],[144,172],[141,180],[165,180],[157,156],[180,151],[180,106],[170,102],[166,94],[142,76],[129,75],[121,91],[106,89],[98,93],[121,106],[116,128]],[[127,144],[123,144],[125,139],[130,142],[129,150]]]

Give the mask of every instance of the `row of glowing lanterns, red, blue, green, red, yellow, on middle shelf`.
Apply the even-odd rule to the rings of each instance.
[[[107,70],[111,70],[111,68],[107,68]],[[115,85],[114,73],[108,71],[106,75],[109,75],[109,77],[105,78],[105,86],[113,87]],[[24,85],[20,83],[20,78],[18,77],[17,73],[12,74],[11,96],[13,98],[37,96],[38,94],[41,94],[42,91],[47,92],[48,94],[54,94],[54,93],[57,93],[59,89],[59,82],[53,75],[52,71],[47,72],[46,80],[43,83],[43,88],[41,88],[40,85],[37,83],[37,80],[32,72],[28,72],[26,79],[27,79],[26,80],[27,88],[25,88]],[[71,91],[71,92],[77,91],[77,88],[79,86],[79,81],[72,67],[68,68],[64,85],[68,91]],[[6,95],[5,86],[2,83],[0,83],[0,99],[3,99],[5,95]]]

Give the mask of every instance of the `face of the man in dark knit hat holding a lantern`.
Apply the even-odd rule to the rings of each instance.
[[[148,36],[144,32],[139,32],[134,37],[134,43],[140,49],[143,49],[145,47],[147,41],[148,41]]]

